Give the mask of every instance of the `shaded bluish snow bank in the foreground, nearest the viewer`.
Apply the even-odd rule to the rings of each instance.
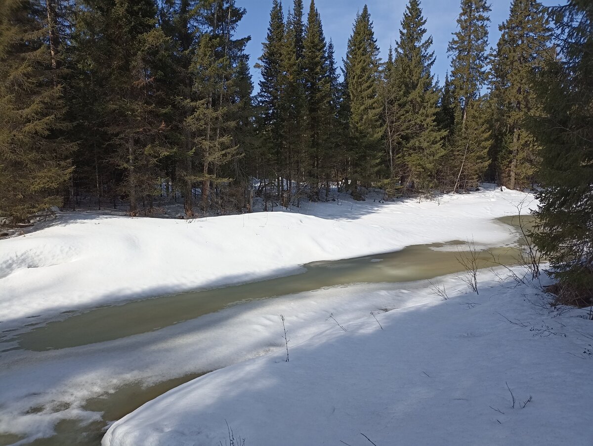
[[[177,387],[114,423],[103,446],[227,444],[227,422],[258,446],[370,444],[362,434],[377,445],[590,445],[591,321],[493,279],[482,272],[479,296],[460,288],[447,301],[417,289],[377,314],[383,330],[368,314],[337,314],[347,332],[329,325],[290,343],[290,362],[278,348]]]

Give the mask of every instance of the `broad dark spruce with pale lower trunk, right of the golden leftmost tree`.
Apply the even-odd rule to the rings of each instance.
[[[88,129],[106,135],[104,158],[118,174],[113,193],[151,208],[161,193],[160,160],[168,154],[162,71],[170,56],[167,37],[156,27],[152,0],[85,0],[76,14],[76,46],[84,48],[82,79],[95,82],[96,114]],[[85,83],[81,85],[84,88]]]

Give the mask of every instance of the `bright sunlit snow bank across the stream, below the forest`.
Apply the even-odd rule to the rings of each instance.
[[[439,202],[337,200],[288,212],[192,221],[64,214],[0,241],[0,329],[63,311],[255,281],[298,265],[394,251],[410,244],[512,241],[492,219],[534,207],[494,187]],[[300,212],[300,213],[297,213]],[[526,209],[524,209],[526,212]],[[307,214],[307,215],[305,215]]]

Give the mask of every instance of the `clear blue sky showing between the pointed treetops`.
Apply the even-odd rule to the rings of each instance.
[[[305,17],[309,11],[310,0],[303,0]],[[496,47],[500,36],[498,26],[505,21],[509,15],[511,0],[491,0],[492,12],[490,12],[489,40],[490,46]],[[292,8],[293,0],[283,0],[282,7],[286,14],[288,8]],[[382,58],[387,58],[387,50],[390,44],[399,39],[400,21],[406,8],[407,0],[366,0],[371,20],[374,23],[375,38],[381,49]],[[272,0],[236,0],[236,5],[247,9],[247,14],[241,20],[237,36],[251,36],[251,42],[247,45],[247,53],[251,55],[251,74],[256,91],[259,81],[259,70],[253,65],[257,58],[262,55],[262,42],[266,38],[267,26],[270,20],[270,8]],[[341,65],[342,58],[346,54],[348,37],[352,32],[352,24],[356,13],[361,11],[365,0],[315,0],[315,5],[321,14],[323,31],[326,40],[333,39],[336,49],[336,60]],[[457,30],[457,16],[460,11],[460,0],[420,0],[420,7],[426,18],[427,34],[432,35],[436,62],[433,66],[433,74],[439,77],[441,84],[445,79],[445,72],[449,69],[447,59],[447,44],[451,40],[451,33]]]

